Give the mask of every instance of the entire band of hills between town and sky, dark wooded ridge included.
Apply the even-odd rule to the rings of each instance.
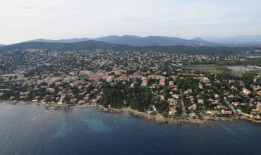
[[[207,42],[206,40],[211,42]],[[224,42],[226,42],[226,44],[224,44]],[[235,43],[229,43],[229,42],[235,42]],[[195,52],[200,52],[198,51],[198,49],[200,49],[199,48],[200,46],[205,46],[202,47],[201,49],[204,48],[210,49],[210,52],[207,53],[212,54],[211,52],[213,51],[212,47],[258,46],[259,48],[260,45],[261,45],[261,35],[236,36],[236,37],[205,37],[203,39],[200,37],[195,37],[194,39],[181,39],[178,37],[162,37],[162,36],[138,37],[133,35],[124,35],[124,36],[112,35],[108,37],[99,37],[95,39],[89,39],[89,38],[81,38],[81,39],[74,38],[74,39],[59,39],[59,40],[35,39],[35,40],[30,40],[18,44],[11,44],[11,45],[0,44],[0,53],[5,53],[16,49],[18,50],[54,49],[54,50],[63,50],[63,51],[80,50],[80,49],[113,49],[119,51],[139,50],[139,51],[166,51],[166,52],[171,52],[171,50],[174,50],[176,53],[182,53],[181,51],[186,52],[184,51],[184,49],[186,49],[188,50],[188,52],[186,52],[187,54],[193,54]],[[197,47],[196,50],[195,47]],[[221,48],[217,48],[217,49],[221,49]],[[203,53],[205,52],[204,50]]]

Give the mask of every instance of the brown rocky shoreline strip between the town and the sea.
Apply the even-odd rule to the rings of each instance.
[[[130,107],[124,107],[123,109],[112,109],[112,108],[105,108],[104,106],[101,105],[95,105],[95,104],[83,104],[83,105],[75,105],[75,106],[49,106],[49,104],[46,104],[45,102],[33,102],[33,101],[8,101],[8,100],[1,100],[0,104],[40,104],[42,106],[45,106],[47,110],[49,109],[76,109],[76,108],[85,108],[85,107],[97,107],[98,112],[104,112],[104,113],[123,113],[123,112],[128,112],[131,115],[138,117],[138,118],[143,118],[147,121],[150,122],[155,122],[159,125],[174,125],[174,126],[179,126],[182,123],[188,123],[191,125],[195,125],[196,128],[211,128],[214,127],[214,123],[211,121],[219,121],[219,122],[233,122],[233,121],[241,121],[241,120],[247,120],[250,121],[251,123],[257,123],[260,124],[261,120],[255,120],[253,118],[246,118],[246,117],[240,117],[240,116],[230,116],[230,117],[219,117],[219,116],[207,116],[207,118],[204,119],[194,119],[194,118],[160,118],[159,116],[152,116],[149,113],[143,113],[140,111],[136,111],[131,109]]]

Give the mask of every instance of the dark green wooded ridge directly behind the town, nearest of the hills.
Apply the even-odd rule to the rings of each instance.
[[[0,46],[0,54],[8,51],[22,49],[52,49],[59,51],[89,50],[89,49],[112,49],[114,51],[158,51],[169,54],[241,54],[252,47],[213,47],[213,46],[130,46],[124,44],[109,44],[97,41],[84,41],[75,43],[57,42],[23,42]],[[261,48],[256,48],[261,50]]]

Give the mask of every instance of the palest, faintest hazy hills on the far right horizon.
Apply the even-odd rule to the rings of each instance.
[[[261,42],[261,35],[238,35],[234,37],[204,37],[207,42],[233,43],[233,42]]]

